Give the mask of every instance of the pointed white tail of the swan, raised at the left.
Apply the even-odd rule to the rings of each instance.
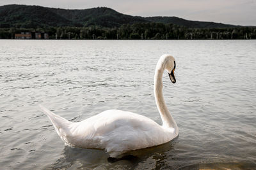
[[[42,109],[42,111],[44,111],[44,113],[47,115],[47,117],[49,117],[49,119],[51,120],[51,122],[52,122],[57,134],[60,136],[60,138],[67,145],[69,145],[67,137],[70,136],[70,126],[73,123],[69,122],[68,120],[66,120],[63,117],[60,117],[59,115],[52,113],[51,111],[44,108],[44,106],[42,106],[42,105],[39,105],[39,106]]]

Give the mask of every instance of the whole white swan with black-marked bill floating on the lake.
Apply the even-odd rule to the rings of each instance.
[[[70,122],[44,106],[40,107],[65,145],[106,150],[113,158],[132,150],[161,145],[179,134],[162,92],[164,70],[168,71],[170,80],[175,83],[175,67],[175,59],[167,54],[162,55],[156,65],[154,95],[163,125],[143,115],[122,110],[106,110],[81,122]]]

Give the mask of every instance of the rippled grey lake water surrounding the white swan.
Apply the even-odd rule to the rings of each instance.
[[[104,110],[161,124],[153,78],[164,53],[164,99],[179,137],[108,159],[65,146],[42,104],[72,122]],[[1,169],[256,169],[256,41],[0,40]]]

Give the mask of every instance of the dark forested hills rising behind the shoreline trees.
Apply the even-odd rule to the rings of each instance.
[[[113,28],[120,27],[123,24],[146,22],[175,24],[190,28],[237,27],[237,25],[191,21],[177,17],[137,17],[124,15],[106,7],[90,8],[86,10],[65,10],[17,4],[0,6],[0,28],[36,28],[49,26],[89,27],[90,25]]]

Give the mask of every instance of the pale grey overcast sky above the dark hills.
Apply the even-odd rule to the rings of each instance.
[[[175,16],[188,20],[256,25],[256,0],[0,0],[4,4],[30,4],[54,8],[113,8],[127,15]]]

